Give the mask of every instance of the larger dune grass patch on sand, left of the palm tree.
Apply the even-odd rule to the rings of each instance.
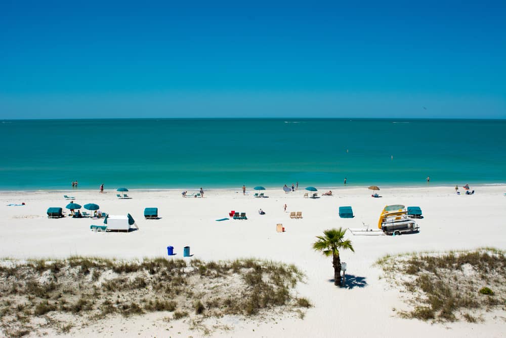
[[[277,308],[303,318],[311,303],[293,292],[303,279],[293,265],[254,258],[0,260],[1,328],[5,335],[23,336],[37,331],[42,318],[46,328],[65,333],[96,319],[149,312],[193,323]]]

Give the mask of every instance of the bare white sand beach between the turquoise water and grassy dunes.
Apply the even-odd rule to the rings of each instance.
[[[462,185],[462,184],[461,184]],[[505,185],[471,186],[475,194],[457,196],[454,186],[381,187],[382,198],[371,198],[367,187],[330,188],[333,196],[304,198],[305,190],[285,194],[267,189],[269,198],[254,198],[248,187],[243,195],[235,190],[205,190],[204,198],[182,198],[181,191],[130,191],[131,199],[117,199],[116,192],[37,191],[0,192],[0,256],[12,258],[65,258],[72,255],[116,258],[163,256],[183,258],[190,246],[194,258],[225,260],[258,257],[294,264],[306,274],[297,292],[313,307],[304,319],[272,318],[261,322],[238,317],[215,321],[231,330],[216,330],[216,337],[500,337],[506,335],[506,313],[488,313],[483,323],[455,322],[431,324],[401,319],[397,310],[406,309],[399,292],[390,287],[373,264],[387,253],[444,251],[496,247],[506,249]],[[320,189],[321,193],[328,189]],[[462,192],[462,188],[460,188]],[[189,191],[188,193],[191,193]],[[197,193],[198,191],[194,191]],[[95,233],[91,224],[101,220],[64,217],[49,219],[49,207],[64,208],[63,195],[74,196],[81,205],[96,203],[112,215],[132,214],[139,226],[130,233]],[[8,206],[21,204],[24,206]],[[283,205],[287,204],[287,212]],[[348,264],[347,288],[333,285],[331,258],[315,252],[315,236],[330,228],[361,228],[362,223],[377,227],[385,205],[419,206],[420,232],[401,236],[353,236],[355,252],[341,252]],[[340,218],[338,208],[352,206],[354,218]],[[157,207],[160,219],[146,220],[144,208]],[[262,208],[266,214],[260,215]],[[81,209],[83,210],[83,209]],[[247,220],[229,217],[231,210],[246,212]],[[302,219],[290,219],[289,212],[302,211]],[[68,210],[67,210],[68,215]],[[230,217],[231,218],[231,217]],[[282,223],[284,233],[276,232]],[[166,247],[177,253],[167,256]],[[185,258],[191,259],[191,258]],[[148,314],[133,319],[105,319],[70,336],[200,336],[186,324],[161,320]]]

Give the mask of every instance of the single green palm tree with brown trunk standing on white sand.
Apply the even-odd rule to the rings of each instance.
[[[323,232],[324,236],[316,236],[318,240],[313,243],[315,251],[321,251],[325,256],[332,256],[332,267],[334,267],[334,285],[341,285],[341,259],[339,249],[350,249],[355,252],[351,240],[343,240],[346,229],[328,229]]]

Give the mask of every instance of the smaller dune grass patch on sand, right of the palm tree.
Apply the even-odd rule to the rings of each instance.
[[[476,323],[486,311],[506,310],[506,253],[496,248],[389,255],[376,265],[411,294],[402,317]]]

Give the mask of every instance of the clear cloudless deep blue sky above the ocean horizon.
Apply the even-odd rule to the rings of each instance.
[[[506,118],[506,2],[0,2],[0,119]]]

